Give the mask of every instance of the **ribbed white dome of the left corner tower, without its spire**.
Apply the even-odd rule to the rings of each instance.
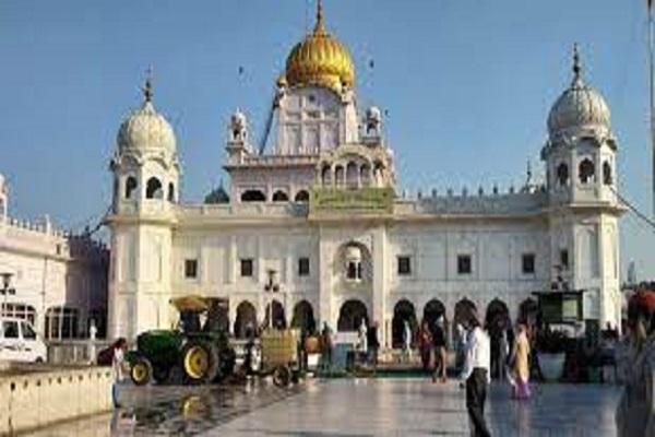
[[[166,118],[158,114],[150,99],[133,111],[118,131],[119,150],[163,149],[175,153],[176,138]]]

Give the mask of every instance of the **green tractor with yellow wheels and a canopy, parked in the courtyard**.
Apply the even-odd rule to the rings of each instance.
[[[136,350],[127,355],[132,381],[136,386],[152,380],[196,385],[231,375],[236,353],[224,326],[227,300],[186,296],[170,303],[180,315],[178,327],[139,334]]]

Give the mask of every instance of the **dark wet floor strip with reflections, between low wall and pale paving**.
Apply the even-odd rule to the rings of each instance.
[[[121,409],[111,414],[62,424],[31,434],[59,436],[195,435],[302,390],[266,381],[209,387],[133,387],[120,392]]]

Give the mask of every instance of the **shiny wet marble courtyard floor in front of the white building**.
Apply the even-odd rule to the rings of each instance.
[[[621,389],[543,385],[527,402],[495,383],[487,420],[495,436],[615,436]],[[45,436],[467,436],[464,391],[454,380],[309,380],[214,388],[127,387],[123,408],[33,433]],[[111,429],[112,428],[112,429]],[[112,434],[114,433],[114,434]]]

